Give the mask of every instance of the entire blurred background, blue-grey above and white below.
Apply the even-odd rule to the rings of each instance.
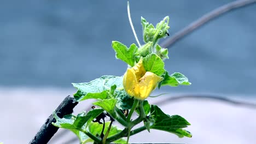
[[[142,43],[141,16],[154,25],[170,16],[169,33],[173,35],[203,14],[229,2],[232,1],[143,0],[130,1],[130,7],[133,25]],[[112,40],[127,46],[136,43],[126,7],[126,1],[120,0],[0,2],[0,110],[3,115],[0,142],[30,141],[61,100],[75,92],[72,82],[89,82],[102,75],[125,73],[127,65],[115,59],[111,43]],[[207,23],[169,48],[166,69],[184,74],[192,85],[164,87],[165,92],[222,94],[255,101],[256,4]],[[163,109],[170,115],[177,112],[188,118],[192,123],[188,130],[195,135],[192,139],[162,139],[164,142],[256,142],[253,138],[255,110],[199,100],[175,103]],[[249,118],[244,123],[246,117]],[[237,123],[243,124],[233,129]],[[10,137],[10,133],[16,138]],[[153,134],[158,133],[153,131]],[[206,138],[209,135],[212,137]],[[139,137],[135,140],[132,142],[141,142]]]

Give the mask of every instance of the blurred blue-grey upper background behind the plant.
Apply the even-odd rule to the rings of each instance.
[[[141,16],[154,25],[170,16],[170,35],[231,1],[131,1],[142,43]],[[63,87],[123,75],[112,40],[136,43],[126,1],[1,1],[0,86]],[[256,5],[225,14],[169,49],[166,69],[193,85],[171,92],[256,94]]]

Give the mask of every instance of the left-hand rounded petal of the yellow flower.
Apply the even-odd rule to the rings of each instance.
[[[131,97],[139,94],[138,91],[135,92],[135,89],[137,89],[137,80],[132,69],[127,69],[126,73],[124,74],[123,85],[125,92]]]

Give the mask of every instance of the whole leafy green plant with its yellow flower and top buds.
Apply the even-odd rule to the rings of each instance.
[[[138,42],[139,47],[136,44],[131,44],[128,48],[119,41],[112,41],[116,58],[129,64],[129,69],[126,72],[129,75],[106,75],[90,82],[72,83],[77,88],[77,92],[74,94],[75,100],[95,99],[96,101],[92,104],[99,108],[81,112],[77,116],[67,115],[63,118],[58,117],[54,112],[56,122],[53,125],[73,131],[82,144],[87,142],[126,143],[123,137],[127,137],[128,143],[131,135],[145,129],[148,131],[150,129],[163,130],[179,137],[191,137],[191,133],[183,129],[190,125],[186,119],[178,115],[169,116],[162,112],[158,106],[150,105],[145,100],[156,85],[159,88],[161,86],[191,85],[188,78],[183,74],[173,73],[169,75],[165,70],[164,60],[169,58],[168,50],[162,48],[158,41],[160,38],[166,37],[168,28],[170,28],[168,22],[169,17],[166,16],[154,27],[141,17],[143,40],[145,42],[142,46]],[[142,61],[138,63],[140,59]],[[130,69],[131,67],[133,68]],[[144,76],[145,70],[155,75]],[[124,77],[125,87],[123,86]],[[158,81],[156,81],[156,78]],[[152,88],[153,86],[154,88]],[[134,97],[135,94],[141,94],[141,91],[147,92],[147,96],[143,98]],[[137,112],[138,117],[132,119],[134,111]],[[108,121],[108,119],[110,120]],[[120,123],[125,128],[121,130],[112,125],[113,121]],[[133,129],[142,122],[144,126]],[[103,125],[105,126],[104,129]]]

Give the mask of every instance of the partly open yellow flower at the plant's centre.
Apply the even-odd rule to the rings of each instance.
[[[123,85],[127,94],[136,99],[144,100],[156,88],[163,78],[146,71],[142,59],[124,74]]]

